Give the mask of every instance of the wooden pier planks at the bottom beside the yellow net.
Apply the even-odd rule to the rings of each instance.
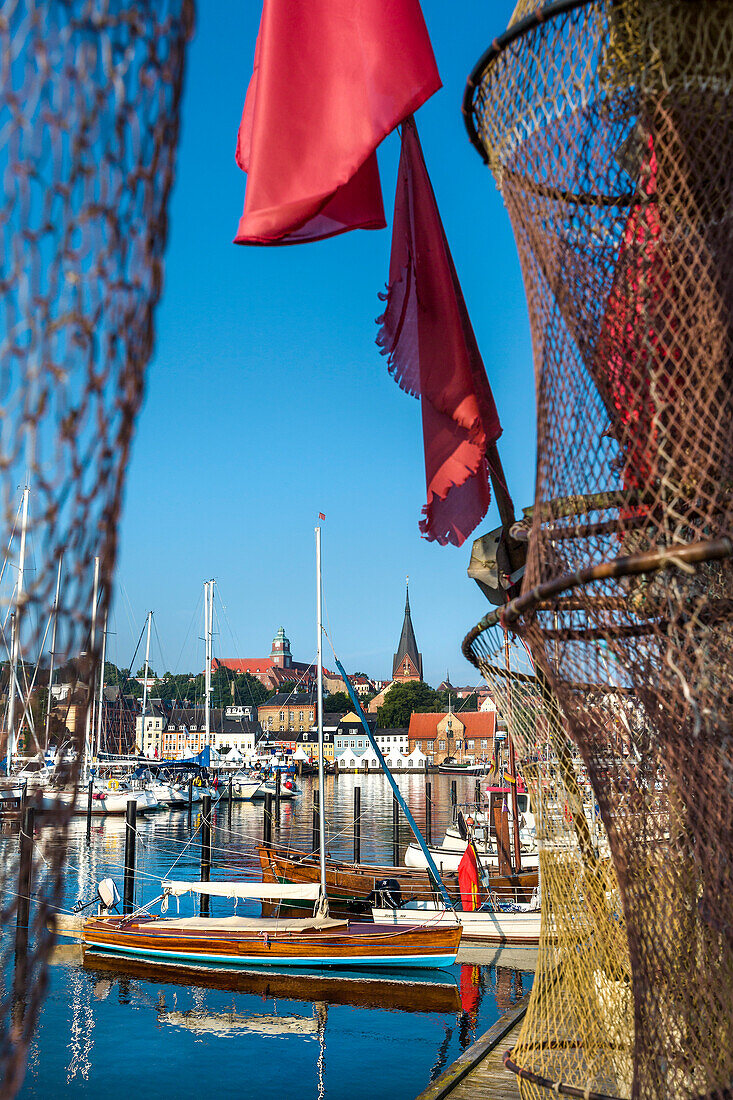
[[[463,1050],[416,1100],[519,1100],[518,1078],[504,1068],[504,1050],[514,1046],[529,993]]]

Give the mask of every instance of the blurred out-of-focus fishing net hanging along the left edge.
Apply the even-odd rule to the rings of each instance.
[[[72,788],[94,738],[90,685],[162,287],[192,24],[192,0],[4,0],[0,13],[0,748],[4,758],[44,747],[53,644],[69,694],[51,733],[67,743],[61,770]],[[18,839],[1,846],[2,1097],[22,1080],[44,993],[72,802],[44,809],[42,791],[28,788],[37,826],[35,839],[21,838],[33,855],[30,935],[15,936],[29,890]]]

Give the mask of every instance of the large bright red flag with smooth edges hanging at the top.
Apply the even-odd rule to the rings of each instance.
[[[238,244],[385,226],[383,138],[437,91],[418,0],[264,0],[237,142]]]

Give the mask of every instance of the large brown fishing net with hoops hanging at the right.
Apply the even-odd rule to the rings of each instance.
[[[519,15],[466,100],[535,351],[535,505],[513,530],[527,566],[502,622],[557,698],[608,834],[630,997],[617,970],[601,982],[628,1005],[631,1093],[730,1097],[733,7]],[[558,944],[567,932],[558,919]],[[546,983],[533,996],[517,1065],[561,1091],[608,1088],[576,1056],[595,1009],[576,989],[566,1028],[541,1010]]]

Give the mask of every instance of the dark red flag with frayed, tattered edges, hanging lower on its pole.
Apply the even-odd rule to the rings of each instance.
[[[427,504],[420,530],[444,546],[460,546],[486,514],[486,447],[502,429],[414,119],[402,128],[385,297],[376,342],[395,381],[423,404]]]

